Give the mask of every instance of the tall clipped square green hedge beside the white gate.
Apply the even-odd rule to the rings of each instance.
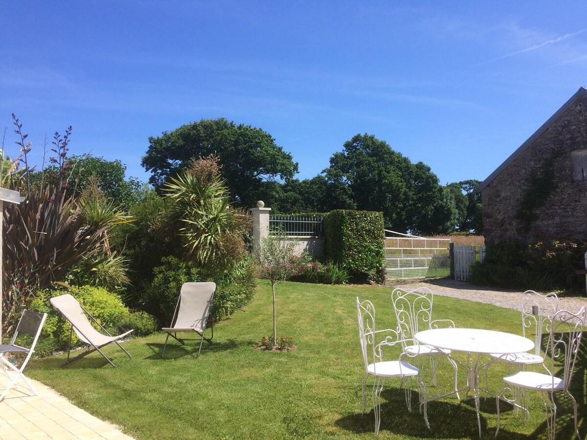
[[[382,212],[336,209],[324,217],[325,256],[355,281],[383,281],[383,236]]]

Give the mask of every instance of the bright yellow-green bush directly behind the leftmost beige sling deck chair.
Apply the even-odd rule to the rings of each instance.
[[[65,293],[69,293],[77,299],[110,334],[117,334],[128,320],[129,309],[124,306],[120,297],[115,293],[108,292],[103,287],[81,286],[73,287],[69,290],[39,290],[31,303],[30,309],[36,313],[47,313],[47,319],[35,349],[40,356],[46,356],[53,351],[67,350],[68,348],[71,325],[49,303],[52,297],[65,295]],[[77,338],[74,332],[72,335],[72,347],[82,345],[82,341]]]

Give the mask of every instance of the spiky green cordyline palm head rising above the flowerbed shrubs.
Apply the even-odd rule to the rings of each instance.
[[[183,222],[181,235],[195,263],[209,265],[220,256],[222,236],[232,222],[228,189],[220,175],[185,172],[164,186],[166,196],[174,201],[175,221]]]

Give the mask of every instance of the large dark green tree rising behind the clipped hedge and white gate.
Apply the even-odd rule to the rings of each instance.
[[[324,171],[329,208],[382,211],[397,232],[447,233],[456,224],[454,197],[430,167],[412,164],[385,141],[357,134]]]

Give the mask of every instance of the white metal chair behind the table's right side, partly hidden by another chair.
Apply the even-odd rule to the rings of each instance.
[[[493,360],[502,360],[508,364],[510,374],[527,370],[528,365],[542,364],[544,356],[541,354],[542,334],[550,335],[552,318],[558,309],[556,293],[541,293],[526,290],[521,297],[522,336],[534,340],[534,350],[529,353],[500,354],[492,353]],[[546,344],[548,346],[548,343]],[[487,364],[487,367],[491,363]],[[487,367],[485,367],[485,384],[487,384]],[[512,388],[512,397],[517,402],[514,414],[518,408],[522,409],[522,422],[529,417],[527,393],[520,393],[518,388]]]

